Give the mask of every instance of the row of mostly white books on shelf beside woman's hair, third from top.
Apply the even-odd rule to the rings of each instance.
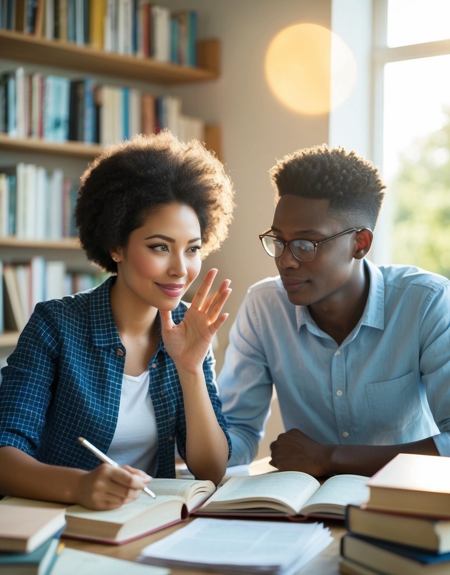
[[[75,237],[74,209],[78,182],[63,170],[19,162],[0,173],[0,241],[2,237],[54,240]]]

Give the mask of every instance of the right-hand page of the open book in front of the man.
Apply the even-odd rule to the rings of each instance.
[[[348,504],[361,505],[369,498],[368,477],[360,475],[335,475],[327,479],[310,497],[302,509],[310,513],[336,513],[344,515]]]

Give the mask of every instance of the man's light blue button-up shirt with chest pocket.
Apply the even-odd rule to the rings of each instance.
[[[440,454],[450,455],[450,281],[417,267],[365,263],[366,309],[340,345],[306,306],[291,304],[279,277],[250,287],[217,381],[230,465],[255,457],[272,385],[286,430],[345,445],[433,436]]]

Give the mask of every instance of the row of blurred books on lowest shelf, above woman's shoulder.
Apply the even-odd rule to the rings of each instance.
[[[43,256],[14,264],[0,260],[0,271],[0,333],[21,331],[38,302],[82,292],[107,277],[101,272],[70,272],[65,262]]]

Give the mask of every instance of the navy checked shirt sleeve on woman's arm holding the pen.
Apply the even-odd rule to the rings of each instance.
[[[52,397],[56,348],[52,332],[51,317],[38,304],[2,369],[0,445],[33,456]]]

